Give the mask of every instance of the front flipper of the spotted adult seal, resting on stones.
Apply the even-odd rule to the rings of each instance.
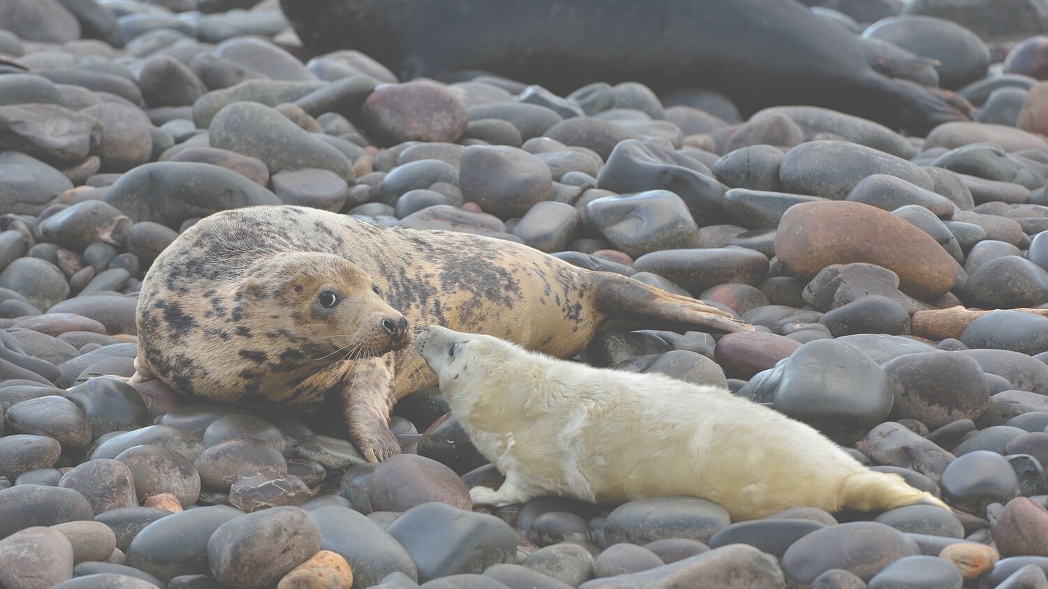
[[[392,355],[352,362],[339,390],[346,426],[361,454],[369,462],[380,462],[400,453],[400,443],[390,431]]]

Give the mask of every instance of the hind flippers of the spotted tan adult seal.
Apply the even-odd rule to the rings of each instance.
[[[593,272],[593,305],[616,326],[705,327],[721,332],[751,332],[754,327],[716,307],[668,293],[612,272]]]

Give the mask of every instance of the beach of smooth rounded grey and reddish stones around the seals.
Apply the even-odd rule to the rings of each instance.
[[[313,53],[277,0],[0,0],[0,589],[1048,589],[1048,3],[803,3],[971,120],[400,78]],[[503,475],[438,388],[374,463],[337,412],[128,384],[153,260],[280,204],[726,311],[754,331],[608,331],[573,360],[730,389],[951,512],[475,508]]]

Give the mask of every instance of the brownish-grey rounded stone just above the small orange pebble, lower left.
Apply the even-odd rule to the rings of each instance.
[[[200,495],[200,475],[177,452],[161,446],[135,446],[121,452],[116,459],[130,469],[139,501],[170,493],[188,507]]]

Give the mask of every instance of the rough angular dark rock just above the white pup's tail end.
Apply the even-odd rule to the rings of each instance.
[[[932,480],[939,480],[955,460],[949,452],[894,422],[873,428],[855,446],[876,465],[907,468]]]

